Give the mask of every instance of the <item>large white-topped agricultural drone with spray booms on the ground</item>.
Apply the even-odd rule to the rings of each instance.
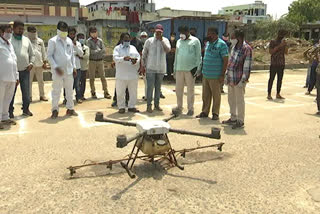
[[[135,141],[131,153],[127,158],[119,160],[109,160],[105,162],[92,162],[79,166],[70,166],[67,169],[70,171],[71,178],[76,173],[76,170],[83,167],[104,165],[107,169],[112,170],[114,164],[120,163],[121,166],[126,170],[130,178],[135,178],[136,175],[132,172],[132,168],[137,159],[155,163],[157,161],[166,160],[173,167],[177,167],[180,170],[184,170],[184,167],[181,166],[177,161],[177,155],[186,157],[186,153],[192,152],[199,149],[213,148],[216,147],[217,150],[222,152],[222,146],[224,143],[212,144],[208,146],[199,146],[196,148],[174,150],[171,146],[168,133],[176,133],[181,135],[192,135],[198,137],[205,137],[210,139],[221,139],[220,129],[211,128],[211,133],[200,133],[193,131],[186,131],[181,129],[171,128],[168,123],[170,120],[178,117],[179,115],[173,112],[173,115],[164,120],[142,120],[138,122],[126,122],[116,119],[110,119],[103,116],[102,112],[97,112],[95,116],[95,121],[97,122],[106,122],[113,123],[123,126],[136,127],[138,133],[135,136],[127,137],[126,135],[117,136],[117,148],[125,148],[131,142]],[[142,155],[139,153],[142,152]]]

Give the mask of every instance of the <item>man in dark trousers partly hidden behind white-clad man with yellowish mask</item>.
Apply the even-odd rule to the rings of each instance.
[[[83,57],[82,46],[76,39],[77,30],[74,27],[70,27],[68,30],[68,37],[73,42],[73,54],[76,62],[77,76],[74,78],[73,88],[76,91],[77,103],[82,103],[81,91],[80,91],[80,77],[81,77],[81,63],[80,57]]]

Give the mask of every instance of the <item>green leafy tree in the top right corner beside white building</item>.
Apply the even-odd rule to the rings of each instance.
[[[320,1],[297,0],[289,6],[287,19],[299,26],[307,22],[320,21]]]

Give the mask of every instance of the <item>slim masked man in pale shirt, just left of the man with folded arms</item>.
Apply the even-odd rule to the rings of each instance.
[[[81,44],[83,56],[80,58],[80,65],[81,65],[81,76],[80,76],[80,99],[82,101],[86,100],[84,97],[86,91],[86,83],[87,83],[87,72],[89,69],[89,56],[90,56],[90,49],[86,46],[86,40],[83,33],[78,33],[77,39]]]

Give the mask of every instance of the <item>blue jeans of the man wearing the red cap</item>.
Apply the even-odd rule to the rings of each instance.
[[[160,104],[160,93],[161,93],[161,83],[164,74],[159,73],[146,73],[147,77],[147,105],[152,105],[153,100],[153,89],[154,93],[154,106],[159,107]]]

